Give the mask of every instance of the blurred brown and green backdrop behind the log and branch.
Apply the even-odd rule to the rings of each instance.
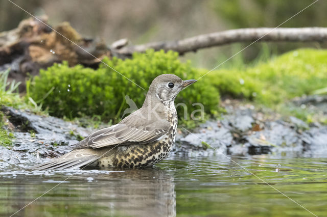
[[[49,23],[71,23],[85,38],[108,45],[128,38],[133,44],[174,40],[237,28],[275,27],[314,1],[308,0],[208,0],[208,1],[80,1],[13,0],[26,11],[47,15]],[[281,27],[327,26],[327,2],[319,1]],[[96,13],[95,13],[96,12]],[[0,2],[0,32],[17,27],[29,15],[7,0]],[[186,53],[196,67],[211,69],[249,43],[237,43]],[[250,63],[298,47],[326,47],[325,43],[255,43],[222,68]]]

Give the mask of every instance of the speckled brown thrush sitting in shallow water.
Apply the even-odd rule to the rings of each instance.
[[[93,168],[143,168],[166,158],[177,130],[174,100],[197,82],[174,74],[155,77],[141,108],[118,124],[95,131],[72,146],[72,151],[31,167],[34,170]]]

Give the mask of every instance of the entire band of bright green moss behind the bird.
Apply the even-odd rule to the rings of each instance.
[[[184,102],[188,109],[188,116],[183,120],[184,110],[177,107],[182,119],[180,123],[192,126],[188,120],[198,109],[192,105],[195,102],[204,105],[206,117],[218,115],[220,95],[277,107],[293,97],[312,94],[316,90],[321,92],[327,86],[326,59],[327,50],[299,49],[270,61],[257,61],[254,66],[212,71],[177,96],[176,104]],[[145,90],[105,64],[94,70],[80,65],[71,68],[64,62],[41,70],[40,75],[29,83],[28,97],[58,117],[96,116],[99,120],[116,123],[129,107],[125,96],[128,95],[137,107],[142,106],[154,77],[172,73],[183,79],[197,79],[208,72],[192,68],[190,63],[181,63],[177,53],[172,51],[148,50],[134,53],[132,59],[113,58],[104,59],[104,62]],[[296,117],[310,122],[310,114],[295,112]]]

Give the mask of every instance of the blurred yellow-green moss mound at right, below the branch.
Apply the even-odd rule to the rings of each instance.
[[[213,71],[204,78],[222,95],[272,106],[325,88],[326,58],[327,50],[299,49],[244,70]]]

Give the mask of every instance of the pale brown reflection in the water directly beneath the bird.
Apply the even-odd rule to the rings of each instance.
[[[109,177],[98,177],[107,180],[97,190],[102,198],[112,199],[103,203],[108,207],[120,210],[110,214],[133,216],[175,216],[176,195],[172,175],[158,168],[129,170],[123,173],[112,173]],[[101,192],[101,193],[100,193]],[[119,199],[119,200],[117,200]]]

